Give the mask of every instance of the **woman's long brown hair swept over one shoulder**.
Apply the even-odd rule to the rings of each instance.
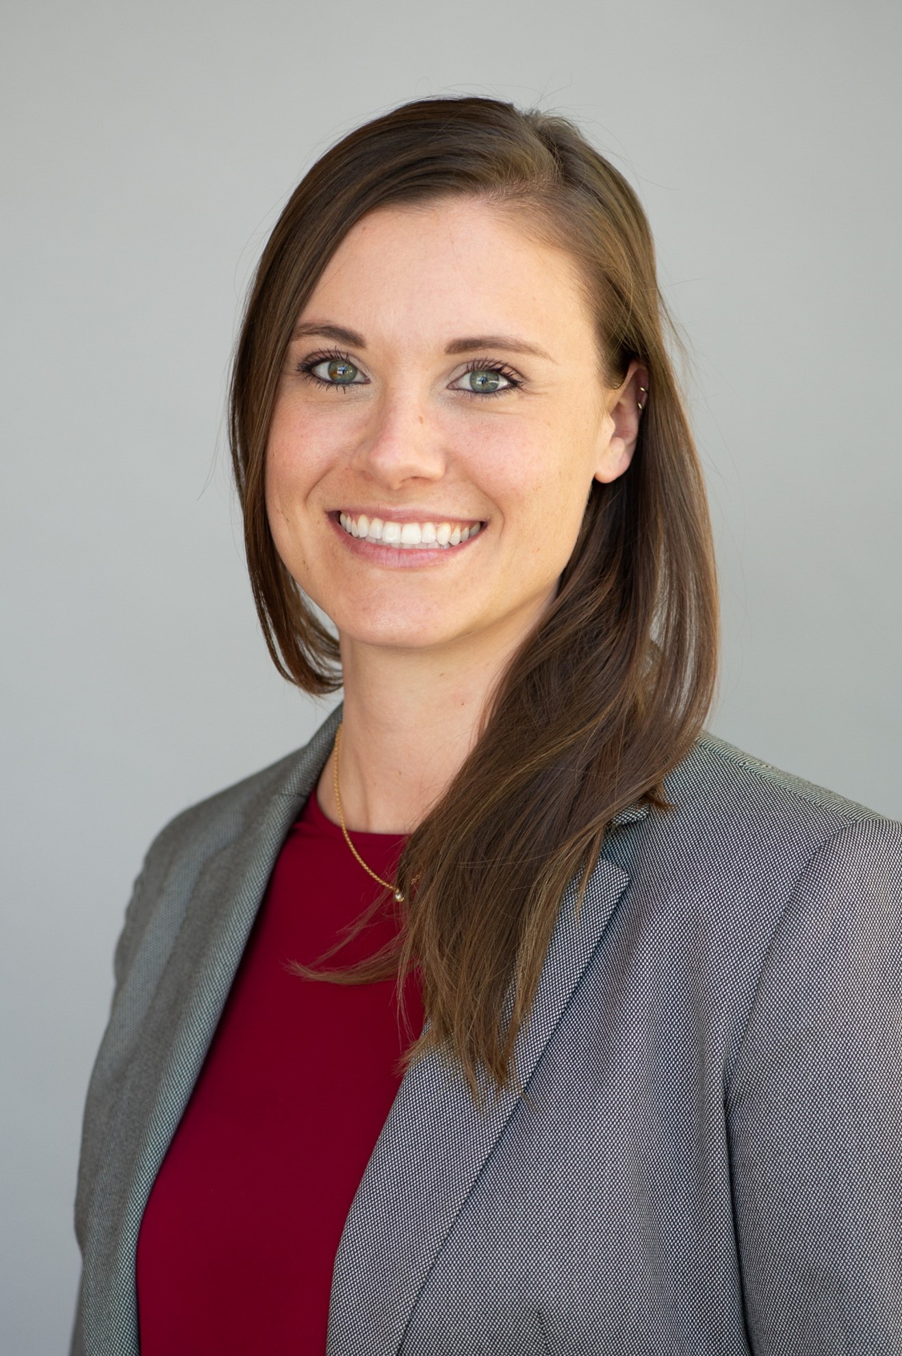
[[[630,469],[593,481],[553,605],[508,664],[442,801],[408,839],[398,884],[410,904],[397,942],[349,970],[298,967],[340,983],[397,975],[398,993],[418,967],[429,1022],[405,1062],[443,1051],[479,1100],[478,1070],[498,1088],[516,1079],[517,1029],[566,885],[578,879],[578,907],[618,811],[669,808],[662,778],[699,735],[714,692],[718,599],[704,484],[635,193],[565,118],[494,99],[425,99],[359,127],[313,165],[251,289],[229,428],[248,570],[276,667],[313,694],[341,685],[337,643],[282,564],[265,513],[267,438],[294,324],[367,212],[462,194],[519,213],[570,252],[608,385],[634,358],[650,376]]]

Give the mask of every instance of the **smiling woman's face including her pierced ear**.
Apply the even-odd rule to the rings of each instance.
[[[343,643],[516,644],[592,480],[630,461],[642,369],[600,381],[576,264],[473,199],[370,213],[298,317],[265,499]],[[638,396],[638,399],[642,399]]]

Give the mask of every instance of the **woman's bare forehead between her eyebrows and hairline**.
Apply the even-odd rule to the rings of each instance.
[[[368,213],[302,315],[424,342],[501,332],[547,348],[593,334],[573,258],[539,240],[517,212],[470,198]]]

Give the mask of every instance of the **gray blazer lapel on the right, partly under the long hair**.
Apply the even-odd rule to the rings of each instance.
[[[615,823],[642,818],[630,808]],[[515,1059],[524,1089],[616,907],[628,875],[601,857],[580,915],[567,887]],[[328,1356],[394,1356],[420,1290],[519,1096],[486,1090],[477,1111],[431,1052],[401,1081],[345,1220],[332,1279]]]

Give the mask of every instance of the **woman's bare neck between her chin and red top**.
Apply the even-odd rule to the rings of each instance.
[[[535,617],[531,618],[531,625]],[[467,637],[442,651],[402,651],[341,637],[344,712],[340,792],[348,830],[410,834],[435,805],[475,743],[486,702],[521,643]],[[317,786],[337,822],[335,751]]]

